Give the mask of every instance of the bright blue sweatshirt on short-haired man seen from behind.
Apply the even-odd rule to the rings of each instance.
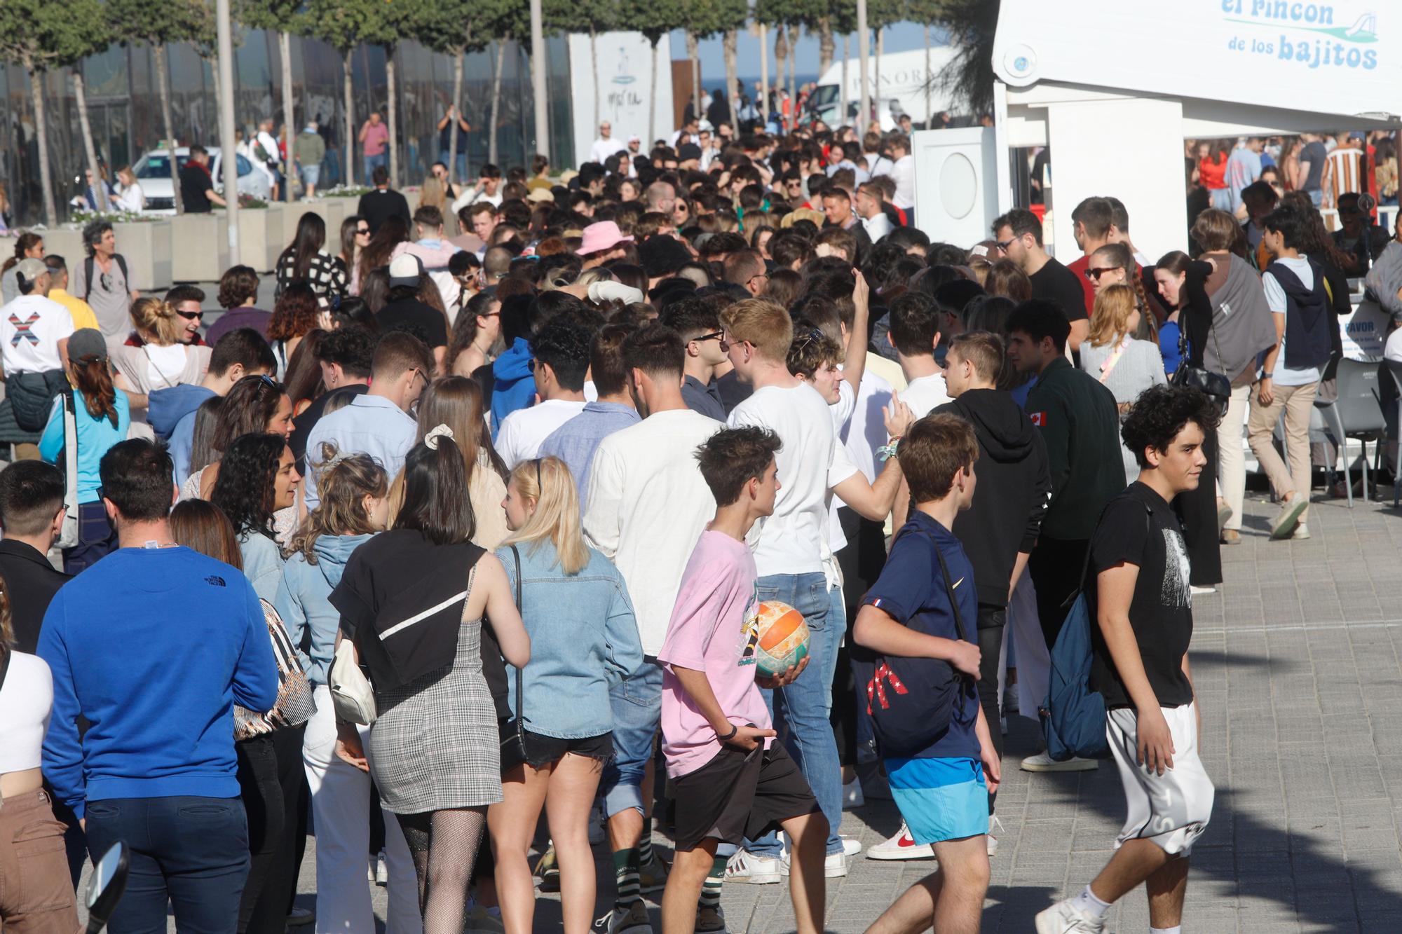
[[[278,665],[237,568],[119,548],[59,589],[38,655],[53,672],[43,774],[79,818],[108,798],[238,797],[233,705],[269,710]]]

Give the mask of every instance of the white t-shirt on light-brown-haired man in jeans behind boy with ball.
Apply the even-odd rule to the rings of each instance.
[[[782,442],[774,515],[764,520],[754,550],[760,576],[820,574],[836,445],[827,401],[808,383],[764,386],[730,411],[729,425],[768,428]]]

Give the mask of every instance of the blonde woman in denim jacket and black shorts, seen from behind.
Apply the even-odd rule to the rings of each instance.
[[[530,662],[506,672],[512,719],[502,728],[502,801],[486,811],[502,923],[508,934],[531,930],[527,851],[544,806],[564,928],[585,934],[594,907],[589,815],[613,756],[608,690],[642,663],[642,644],[622,575],[585,544],[565,461],[517,464],[502,506],[512,534],[496,557],[519,588],[531,639]]]

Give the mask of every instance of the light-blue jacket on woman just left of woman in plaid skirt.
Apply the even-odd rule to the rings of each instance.
[[[303,670],[313,684],[325,684],[336,648],[341,613],[331,606],[331,592],[341,583],[350,553],[374,536],[321,536],[313,551],[317,562],[308,564],[300,551],[287,558],[272,599],[278,616],[297,647]],[[306,647],[306,651],[303,651]]]

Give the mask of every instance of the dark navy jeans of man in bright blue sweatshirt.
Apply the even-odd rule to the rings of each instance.
[[[111,934],[164,934],[165,903],[175,928],[234,934],[248,878],[248,823],[238,798],[108,798],[87,805],[88,853],[102,858],[118,840],[130,848],[126,892]]]

